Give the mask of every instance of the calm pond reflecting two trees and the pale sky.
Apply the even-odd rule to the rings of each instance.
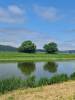
[[[40,79],[63,73],[70,76],[74,72],[75,61],[0,63],[0,79],[11,77],[27,79],[31,76]]]

